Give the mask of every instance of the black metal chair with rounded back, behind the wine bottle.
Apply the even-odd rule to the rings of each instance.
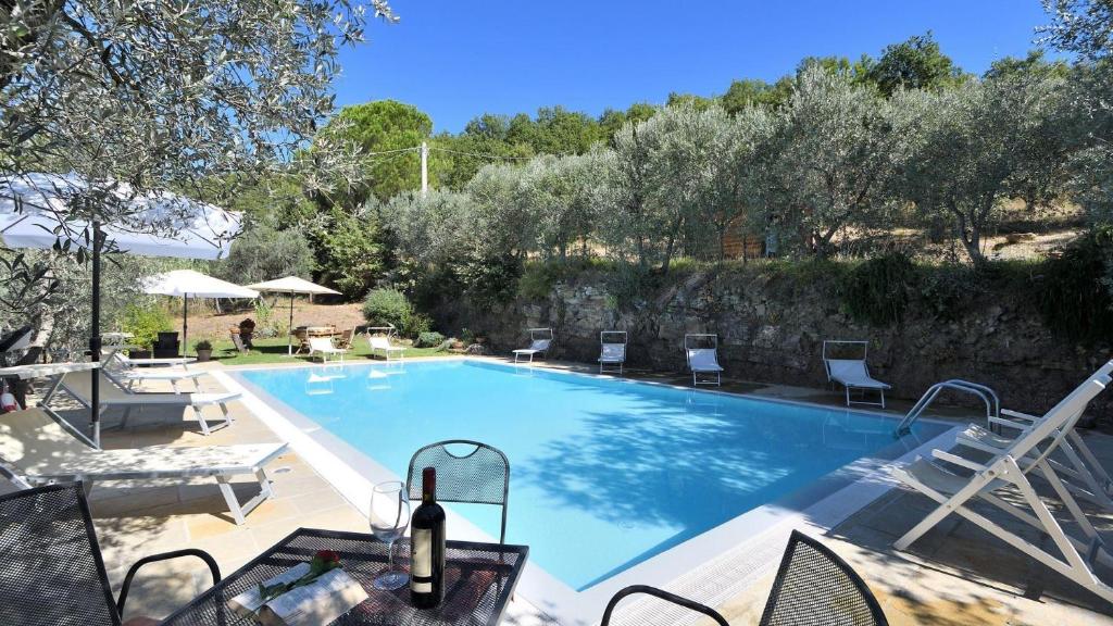
[[[449,451],[449,446],[471,446],[464,456]],[[414,452],[406,472],[411,500],[420,500],[422,470],[436,469],[436,499],[444,502],[493,505],[502,507],[499,542],[506,542],[506,506],[510,499],[510,461],[498,448],[479,441],[451,439],[431,443]]]

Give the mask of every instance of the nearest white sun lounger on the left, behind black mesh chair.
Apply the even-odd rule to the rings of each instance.
[[[126,450],[97,450],[70,434],[41,409],[0,415],[0,462],[28,485],[58,481],[156,480],[195,477],[216,479],[236,524],[270,497],[265,467],[286,450],[286,443],[247,446],[151,446]],[[234,477],[254,475],[259,492],[240,505],[232,489]]]

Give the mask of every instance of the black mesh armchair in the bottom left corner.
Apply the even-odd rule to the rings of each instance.
[[[207,552],[175,550],[132,565],[114,600],[80,482],[0,496],[0,624],[119,626],[136,571],[184,556],[204,560],[220,581]]]

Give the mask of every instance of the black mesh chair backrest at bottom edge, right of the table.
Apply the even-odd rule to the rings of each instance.
[[[794,530],[760,626],[798,624],[888,626],[861,577],[829,548]]]

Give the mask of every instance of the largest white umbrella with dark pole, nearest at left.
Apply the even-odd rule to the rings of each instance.
[[[93,188],[96,187],[96,189]],[[101,224],[80,217],[78,206],[98,197],[118,203],[126,218]],[[79,248],[92,257],[92,329],[89,349],[100,360],[100,253],[221,258],[239,234],[238,213],[170,192],[134,193],[122,183],[95,185],[77,174],[0,174],[0,243],[6,247]],[[158,234],[155,234],[158,233]],[[100,378],[92,372],[91,430],[100,444]]]

